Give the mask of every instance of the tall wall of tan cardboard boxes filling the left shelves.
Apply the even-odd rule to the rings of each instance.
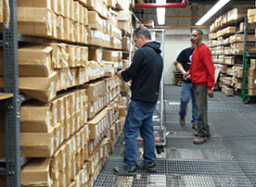
[[[130,6],[130,0],[18,0],[19,33],[53,39],[19,45],[19,89],[26,96],[20,148],[32,158],[21,170],[22,186],[93,186],[126,115],[128,86],[122,90],[115,73],[129,67],[122,51],[129,49]]]

